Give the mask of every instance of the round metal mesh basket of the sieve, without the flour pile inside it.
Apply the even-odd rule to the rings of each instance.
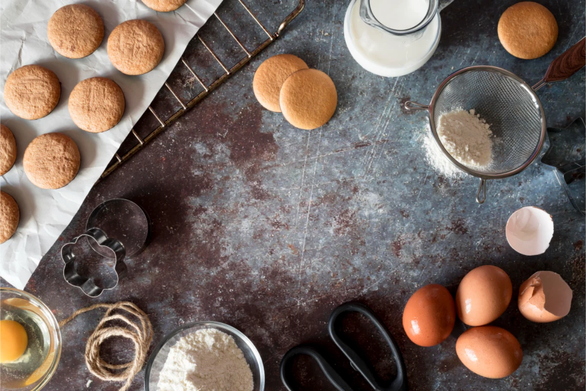
[[[485,67],[486,69],[486,67]],[[454,110],[476,110],[493,133],[492,162],[465,166],[470,174],[507,176],[525,165],[541,147],[541,104],[520,81],[498,68],[469,70],[444,82],[432,102],[432,127]],[[438,138],[434,129],[435,138]]]

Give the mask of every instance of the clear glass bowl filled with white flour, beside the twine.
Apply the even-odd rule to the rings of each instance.
[[[152,352],[145,391],[264,391],[257,349],[237,329],[220,322],[183,325]]]

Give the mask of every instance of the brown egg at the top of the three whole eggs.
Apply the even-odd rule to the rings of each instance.
[[[511,279],[502,268],[479,266],[469,271],[458,285],[458,317],[469,326],[489,324],[505,312],[512,295]]]

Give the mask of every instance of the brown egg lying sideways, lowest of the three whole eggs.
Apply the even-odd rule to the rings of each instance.
[[[456,341],[456,353],[466,368],[491,379],[509,376],[523,360],[523,350],[517,338],[496,326],[466,330]]]

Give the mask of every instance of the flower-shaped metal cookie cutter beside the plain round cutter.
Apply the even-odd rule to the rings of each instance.
[[[73,252],[73,247],[82,237],[87,237],[88,241],[95,242],[96,246],[100,247],[112,254],[111,258],[115,259],[114,271],[116,272],[116,281],[112,287],[101,287],[96,284],[94,277],[81,276],[77,273],[75,266],[77,256]],[[99,228],[90,228],[73,239],[73,242],[66,243],[61,248],[61,257],[65,263],[63,267],[63,277],[65,281],[74,287],[78,287],[84,294],[90,297],[98,297],[105,290],[111,290],[117,287],[118,282],[127,274],[127,266],[124,263],[126,250],[124,245],[111,237],[107,237],[103,230]]]

